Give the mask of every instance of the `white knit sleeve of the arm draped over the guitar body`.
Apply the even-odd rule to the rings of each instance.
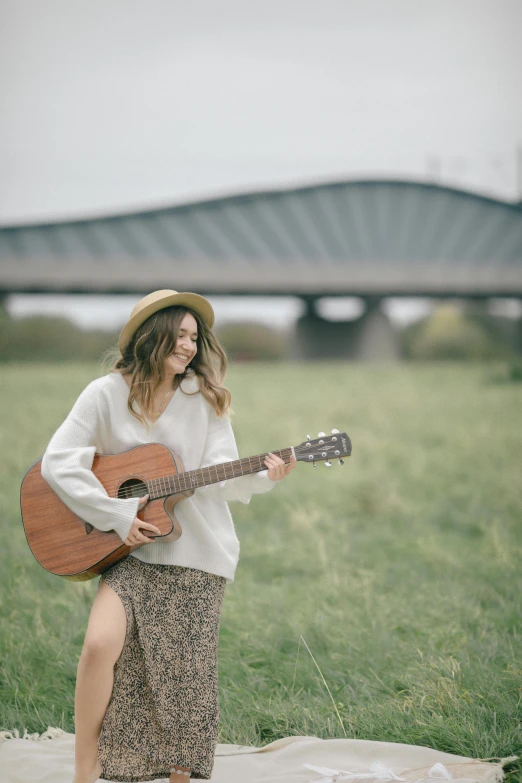
[[[115,530],[125,541],[139,498],[111,498],[92,472],[98,443],[96,381],[80,394],[54,433],[42,460],[42,476],[71,511],[98,530]]]

